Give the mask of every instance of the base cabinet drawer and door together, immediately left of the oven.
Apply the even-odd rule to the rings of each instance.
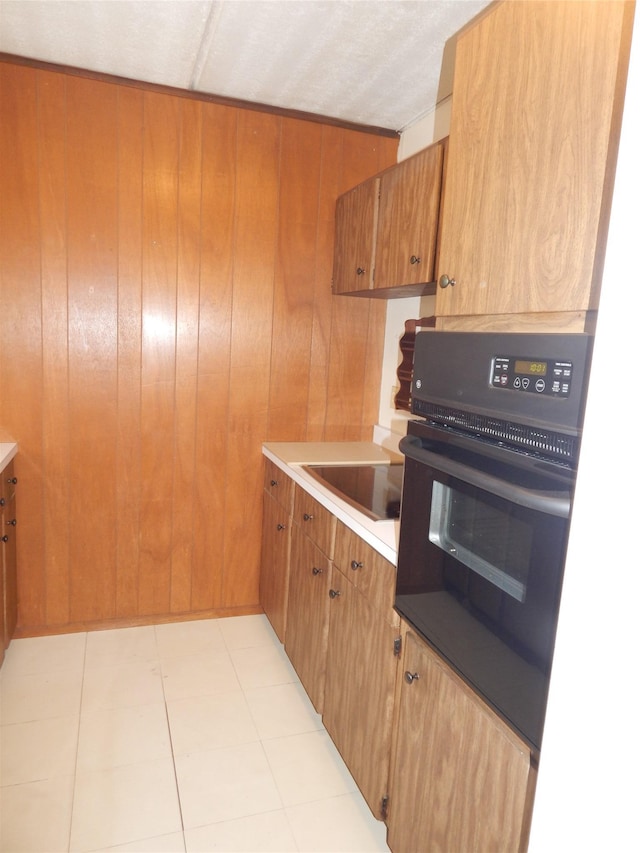
[[[395,567],[338,522],[323,722],[369,808],[385,817],[399,619]]]

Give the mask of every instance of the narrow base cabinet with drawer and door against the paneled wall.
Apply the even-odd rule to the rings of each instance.
[[[293,487],[293,480],[265,459],[260,604],[281,643],[286,632]]]

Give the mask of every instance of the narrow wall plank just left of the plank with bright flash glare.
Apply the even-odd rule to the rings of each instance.
[[[118,88],[116,615],[138,615],[142,358],[143,94]]]

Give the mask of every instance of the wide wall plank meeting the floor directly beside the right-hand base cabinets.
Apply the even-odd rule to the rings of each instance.
[[[267,431],[281,119],[238,119],[223,602],[257,604]]]

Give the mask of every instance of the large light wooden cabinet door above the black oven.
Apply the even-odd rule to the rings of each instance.
[[[439,316],[597,307],[632,15],[506,2],[459,37]]]

